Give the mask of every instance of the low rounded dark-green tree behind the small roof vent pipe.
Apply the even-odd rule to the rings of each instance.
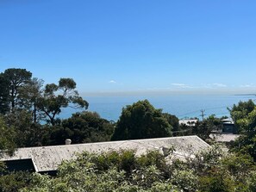
[[[61,125],[50,128],[47,145],[62,145],[66,139],[73,144],[109,141],[114,125],[103,119],[96,112],[83,111],[72,114]]]

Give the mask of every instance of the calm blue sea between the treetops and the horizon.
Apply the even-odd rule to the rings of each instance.
[[[179,119],[197,117],[201,118],[201,110],[204,114],[229,116],[228,108],[240,101],[256,99],[256,96],[91,96],[84,98],[89,102],[89,111],[96,111],[107,120],[117,121],[122,113],[122,108],[139,100],[147,99],[155,108],[162,108],[163,112],[176,115]],[[65,108],[60,118],[67,118],[78,110]]]

